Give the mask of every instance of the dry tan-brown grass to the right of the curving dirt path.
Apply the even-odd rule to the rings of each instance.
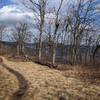
[[[59,71],[6,59],[4,63],[28,81],[29,88],[22,100],[100,100],[100,70],[77,66]]]

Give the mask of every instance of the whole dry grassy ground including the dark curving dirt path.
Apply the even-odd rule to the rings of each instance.
[[[0,100],[100,100],[100,79],[94,77],[92,82],[88,71],[84,74],[84,70],[74,68],[58,71],[33,62],[13,62],[5,58],[3,63]],[[99,71],[93,73],[100,76]]]

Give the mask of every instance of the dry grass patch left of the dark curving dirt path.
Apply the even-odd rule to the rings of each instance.
[[[0,100],[11,100],[17,89],[16,77],[0,65]]]

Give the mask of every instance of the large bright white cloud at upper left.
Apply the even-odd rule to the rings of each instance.
[[[4,6],[0,9],[0,22],[2,23],[31,22],[33,19],[34,14],[32,12],[23,11],[15,5]]]

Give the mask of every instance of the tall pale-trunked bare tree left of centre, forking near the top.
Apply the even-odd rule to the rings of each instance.
[[[38,50],[38,59],[41,60],[42,55],[42,34],[44,32],[44,22],[45,22],[45,14],[46,14],[46,5],[47,0],[28,0],[28,3],[23,2],[23,4],[30,10],[33,11],[36,20],[37,20],[37,26],[35,25],[35,28],[39,30],[39,50]]]

